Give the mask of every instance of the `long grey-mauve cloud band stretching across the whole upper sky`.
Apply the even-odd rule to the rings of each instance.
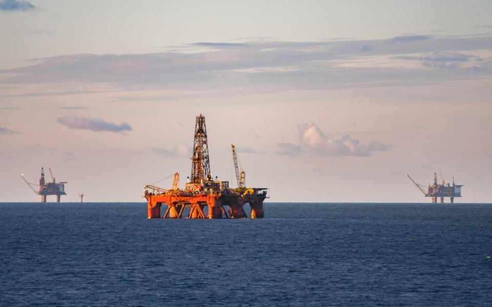
[[[70,80],[110,84],[113,89],[127,91],[165,89],[192,94],[227,91],[229,95],[243,95],[355,85],[413,85],[492,76],[492,36],[413,35],[315,42],[198,42],[187,46],[206,49],[191,54],[80,54],[36,59],[25,67],[0,70],[0,84],[46,85]],[[484,54],[483,57],[479,58],[478,53]],[[452,65],[455,69],[438,69],[443,65]],[[228,85],[227,90],[223,84]],[[48,93],[51,88],[47,89]],[[59,94],[51,91],[48,94],[14,93],[10,96]],[[157,101],[168,98],[156,95],[119,97],[117,100]]]

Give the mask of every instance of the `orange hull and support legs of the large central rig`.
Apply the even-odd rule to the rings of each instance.
[[[251,218],[263,217],[263,201],[266,193],[261,194],[213,194],[202,192],[167,192],[154,194],[146,192],[147,217],[160,218],[161,207],[165,209],[163,218],[243,218],[244,204],[251,207]]]

